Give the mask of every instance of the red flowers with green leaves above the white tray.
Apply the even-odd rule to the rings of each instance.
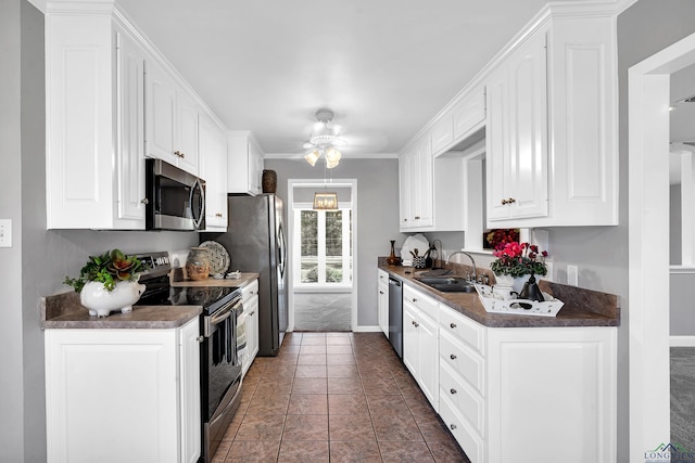
[[[529,243],[500,244],[492,253],[497,258],[490,265],[490,269],[498,275],[521,276],[525,274],[545,275],[547,267],[545,258],[547,252]]]

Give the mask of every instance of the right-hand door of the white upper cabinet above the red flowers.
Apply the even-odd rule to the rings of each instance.
[[[547,85],[545,31],[508,60],[511,217],[547,216]]]

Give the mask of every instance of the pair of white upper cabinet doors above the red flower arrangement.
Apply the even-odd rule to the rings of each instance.
[[[547,215],[545,31],[529,37],[488,85],[488,219]]]

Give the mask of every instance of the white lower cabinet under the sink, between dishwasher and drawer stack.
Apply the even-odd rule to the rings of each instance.
[[[403,363],[434,410],[439,408],[439,303],[403,287]]]

